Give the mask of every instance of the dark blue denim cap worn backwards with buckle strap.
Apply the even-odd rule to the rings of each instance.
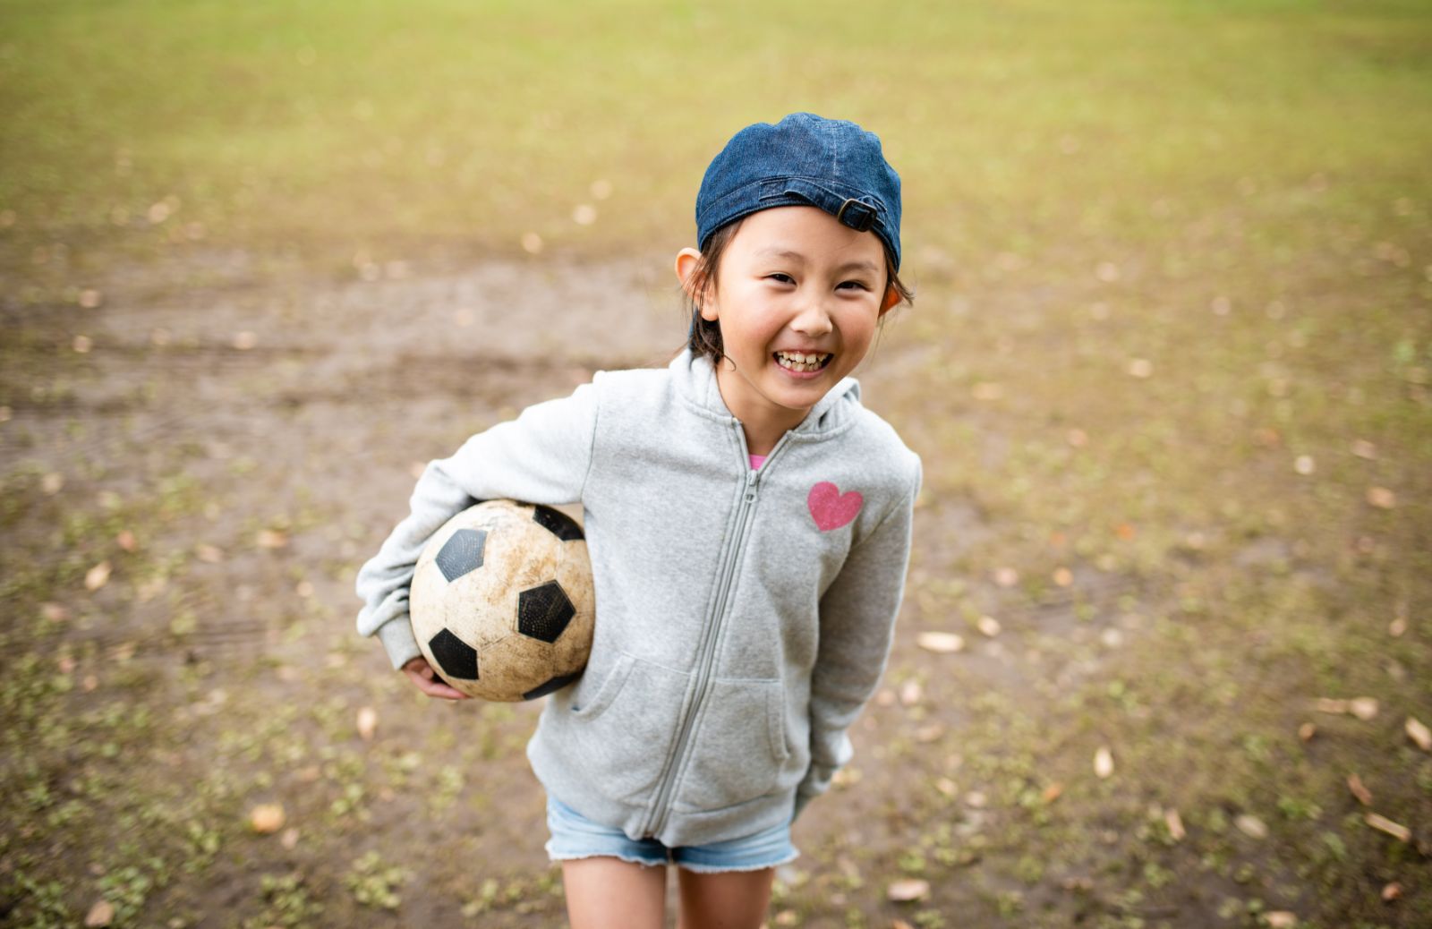
[[[746,126],[712,160],[696,193],[696,240],[772,206],[819,206],[874,232],[899,271],[899,175],[881,140],[855,123],[792,113]]]

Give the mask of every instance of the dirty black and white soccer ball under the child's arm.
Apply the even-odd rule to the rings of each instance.
[[[408,607],[422,656],[454,689],[516,701],[566,687],[596,618],[581,527],[551,507],[470,507],[422,550]]]

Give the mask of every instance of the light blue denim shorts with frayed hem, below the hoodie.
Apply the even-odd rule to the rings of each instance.
[[[699,873],[723,870],[762,870],[793,862],[800,850],[790,845],[790,820],[745,839],[712,845],[667,847],[656,839],[629,839],[620,829],[600,826],[557,797],[547,794],[547,857],[566,862],[580,857],[610,856],[623,862],[676,865]]]

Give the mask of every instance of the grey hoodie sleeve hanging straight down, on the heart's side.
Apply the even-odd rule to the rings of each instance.
[[[796,814],[825,793],[835,772],[851,760],[848,730],[885,673],[905,590],[919,481],[915,458],[906,494],[851,550],[821,598],[821,644],[811,678],[811,769],[796,790]]]

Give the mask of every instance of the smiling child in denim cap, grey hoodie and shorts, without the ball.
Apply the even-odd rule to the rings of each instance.
[[[597,623],[527,746],[571,923],[758,926],[790,823],[851,759],[889,653],[919,458],[846,375],[909,292],[899,176],[855,123],[748,126],[706,169],[664,369],[599,372],[427,467],[358,575],[358,631],[432,697],[407,617],[474,500],[581,501]]]

